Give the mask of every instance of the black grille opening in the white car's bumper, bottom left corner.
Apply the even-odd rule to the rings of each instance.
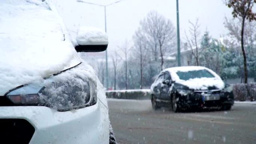
[[[28,144],[35,132],[24,119],[0,119],[1,144]]]

